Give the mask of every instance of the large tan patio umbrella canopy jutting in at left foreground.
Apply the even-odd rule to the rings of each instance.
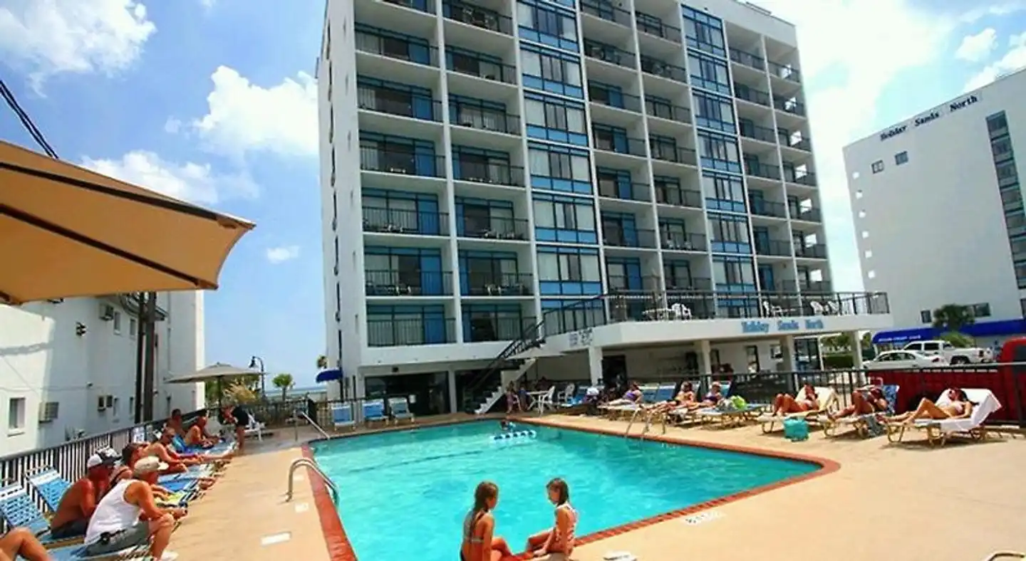
[[[0,142],[0,304],[216,288],[252,228]]]

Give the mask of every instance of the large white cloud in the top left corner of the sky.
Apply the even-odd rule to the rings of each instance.
[[[26,67],[37,91],[55,74],[128,68],[156,31],[136,0],[4,0],[0,6],[0,52]]]

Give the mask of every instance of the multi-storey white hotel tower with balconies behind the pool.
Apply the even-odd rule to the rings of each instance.
[[[833,293],[799,66],[794,27],[734,0],[329,0],[347,395],[479,409],[528,369],[794,367],[795,337],[889,326],[885,296]]]

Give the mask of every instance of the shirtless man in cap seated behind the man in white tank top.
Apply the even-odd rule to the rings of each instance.
[[[50,520],[50,534],[55,539],[67,539],[85,533],[89,517],[96,510],[96,503],[111,488],[114,459],[106,450],[100,450],[85,460],[85,477],[65,491],[56,514]]]

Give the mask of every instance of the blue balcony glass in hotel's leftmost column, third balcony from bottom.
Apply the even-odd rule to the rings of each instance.
[[[363,189],[361,196],[364,229],[426,236],[448,235],[448,232],[442,232],[437,195]]]

